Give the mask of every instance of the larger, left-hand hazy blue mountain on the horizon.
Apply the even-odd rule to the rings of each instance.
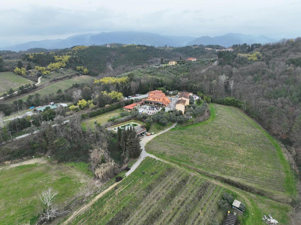
[[[21,51],[29,48],[59,49],[72,47],[74,45],[103,45],[109,43],[122,44],[144,44],[148,46],[173,46],[180,47],[184,44],[178,43],[175,39],[150,32],[101,32],[99,34],[73,35],[66,39],[30,41],[24,44],[17,44],[10,47],[1,47],[0,50]]]

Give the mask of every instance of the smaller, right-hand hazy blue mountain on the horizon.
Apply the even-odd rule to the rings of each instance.
[[[277,42],[278,40],[265,37],[263,35],[261,36],[252,36],[252,35],[245,35],[245,34],[233,34],[229,33],[222,36],[216,36],[216,37],[209,37],[209,36],[202,36],[199,38],[196,38],[195,40],[189,42],[187,45],[194,45],[194,44],[218,44],[225,47],[230,47],[233,44],[254,44],[254,43],[271,43],[271,42]]]

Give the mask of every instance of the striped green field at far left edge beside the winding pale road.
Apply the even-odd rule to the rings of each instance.
[[[33,84],[34,82],[24,78],[14,72],[0,73],[0,95],[7,92],[11,88],[13,90],[25,84]]]

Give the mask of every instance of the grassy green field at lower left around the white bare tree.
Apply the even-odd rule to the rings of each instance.
[[[68,166],[43,160],[39,163],[0,168],[0,224],[35,224],[39,217],[39,195],[48,187],[58,192],[54,203],[64,206],[84,191],[88,176]]]

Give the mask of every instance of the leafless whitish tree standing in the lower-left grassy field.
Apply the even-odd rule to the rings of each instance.
[[[54,192],[52,187],[49,187],[47,190],[42,192],[40,199],[44,204],[44,208],[43,208],[42,214],[36,224],[39,224],[42,222],[47,223],[50,220],[53,220],[59,216],[66,214],[69,211],[69,210],[60,211],[57,206],[54,206],[52,204],[52,202],[55,199],[55,196],[57,196],[57,194],[58,193]]]

